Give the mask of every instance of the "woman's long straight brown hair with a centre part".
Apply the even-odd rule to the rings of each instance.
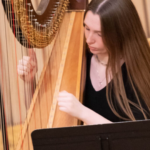
[[[99,15],[102,39],[108,49],[106,96],[111,110],[124,120],[135,120],[130,107],[134,106],[147,119],[140,99],[142,98],[150,109],[150,47],[133,3],[131,0],[92,0],[85,16],[88,11]],[[125,61],[127,75],[137,103],[127,98],[120,57]],[[113,78],[109,84],[108,67],[111,68]],[[112,99],[112,89],[115,102]],[[117,112],[116,103],[126,117]]]

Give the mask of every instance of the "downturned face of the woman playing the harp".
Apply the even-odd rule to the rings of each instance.
[[[92,11],[88,11],[84,19],[84,33],[86,42],[93,54],[106,54],[107,50],[102,41],[100,18]]]

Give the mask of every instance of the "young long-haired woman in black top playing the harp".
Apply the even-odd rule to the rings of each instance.
[[[58,105],[86,124],[150,118],[150,48],[131,0],[92,0],[84,104],[66,91]]]

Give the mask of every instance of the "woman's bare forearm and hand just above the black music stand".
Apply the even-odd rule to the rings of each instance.
[[[87,125],[111,123],[111,121],[85,107],[74,95],[66,91],[59,93],[58,106],[61,111],[82,120]]]

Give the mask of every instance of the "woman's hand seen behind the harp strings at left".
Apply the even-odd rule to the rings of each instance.
[[[19,60],[17,67],[18,75],[24,81],[30,82],[33,80],[37,70],[36,54],[33,49],[29,49],[29,56],[23,56],[23,58]]]

